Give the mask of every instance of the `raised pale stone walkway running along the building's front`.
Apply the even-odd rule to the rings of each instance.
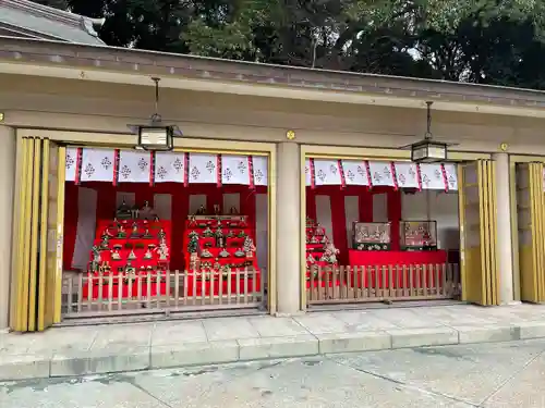
[[[545,337],[545,306],[469,305],[0,334],[0,380]]]

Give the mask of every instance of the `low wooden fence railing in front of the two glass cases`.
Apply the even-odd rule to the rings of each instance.
[[[306,271],[307,305],[453,299],[458,264],[313,267]]]

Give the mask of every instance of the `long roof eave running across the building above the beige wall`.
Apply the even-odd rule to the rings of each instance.
[[[0,39],[0,61],[4,72],[5,64],[17,63],[64,70],[62,74],[59,71],[59,75],[66,75],[66,70],[72,70],[80,78],[85,72],[90,81],[126,79],[128,84],[153,85],[149,76],[159,76],[164,86],[168,86],[168,81],[172,87],[198,82],[206,83],[207,90],[219,92],[227,91],[225,84],[230,84],[233,86],[231,91],[237,86],[237,91],[242,92],[245,88],[243,91],[249,95],[254,91],[263,96],[265,88],[268,88],[268,95],[274,89],[277,97],[283,94],[286,98],[298,92],[302,96],[303,92],[308,95],[308,91],[315,91],[325,96],[325,100],[341,101],[343,96],[346,101],[354,103],[391,104],[402,100],[412,101],[409,104],[414,108],[424,107],[425,100],[434,100],[435,109],[545,116],[545,92],[538,90],[311,70],[126,48],[3,38]],[[121,74],[126,76],[125,79],[117,76],[113,81],[112,75]],[[338,95],[334,98],[335,94]],[[396,99],[398,102],[392,102]]]

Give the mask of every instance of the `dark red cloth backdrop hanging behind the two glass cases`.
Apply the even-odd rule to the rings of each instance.
[[[350,244],[347,236],[347,217],[344,209],[346,196],[358,196],[359,221],[373,222],[373,195],[387,194],[388,220],[391,222],[392,250],[399,250],[399,222],[401,221],[401,191],[393,187],[364,187],[364,186],[316,186],[306,187],[306,215],[316,220],[316,195],[329,196],[331,202],[332,239],[339,249],[339,263],[349,264],[348,250]]]

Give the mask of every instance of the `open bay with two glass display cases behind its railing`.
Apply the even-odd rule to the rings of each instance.
[[[457,165],[306,160],[307,305],[456,299]]]

